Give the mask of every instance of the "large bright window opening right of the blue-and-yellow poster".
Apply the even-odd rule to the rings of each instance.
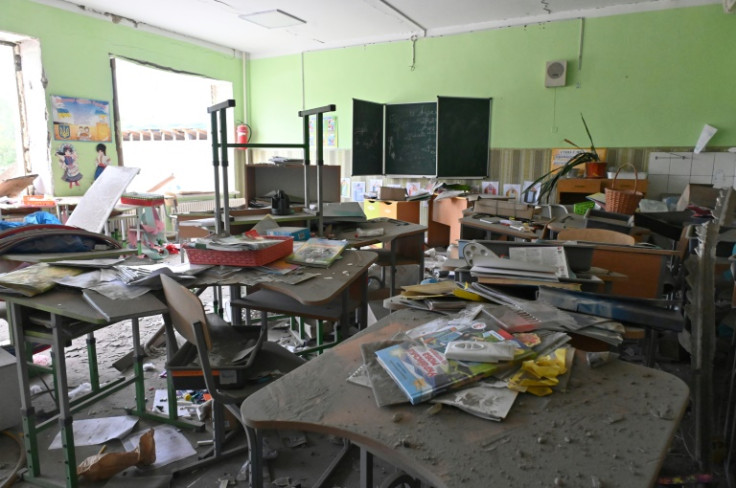
[[[207,107],[232,98],[232,84],[121,58],[113,69],[121,161],[141,169],[128,189],[214,191]]]

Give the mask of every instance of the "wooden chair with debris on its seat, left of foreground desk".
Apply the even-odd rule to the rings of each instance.
[[[200,387],[206,387],[212,396],[212,455],[206,457],[209,452],[205,453],[199,461],[177,470],[183,473],[245,450],[245,445],[224,449],[224,444],[229,440],[225,436],[225,410],[240,421],[240,404],[266,384],[263,379],[270,372],[278,370],[285,374],[303,364],[304,360],[278,344],[268,342],[265,325],[232,326],[217,315],[206,315],[197,295],[173,278],[161,275],[161,284],[172,325],[191,344],[190,348],[196,348],[199,365],[190,362],[187,367],[201,370],[203,384]],[[168,342],[175,343],[173,340]],[[177,355],[184,351],[184,347],[186,345]],[[181,367],[174,357],[169,355],[167,370]],[[244,363],[236,364],[241,361]],[[191,381],[191,371],[187,373]],[[175,374],[173,376],[176,377]],[[232,383],[226,378],[236,378],[236,381]],[[191,388],[191,384],[188,387]]]

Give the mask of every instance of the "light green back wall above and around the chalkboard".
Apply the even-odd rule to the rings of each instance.
[[[350,148],[353,98],[446,95],[494,99],[493,148],[586,145],[581,113],[599,147],[693,147],[706,123],[719,128],[710,146],[736,145],[736,15],[710,5],[587,19],[579,65],[582,23],[419,39],[413,69],[411,41],[252,60],[254,137],[299,141],[296,112],[335,104],[338,144]],[[567,86],[545,88],[545,62],[557,59]]]

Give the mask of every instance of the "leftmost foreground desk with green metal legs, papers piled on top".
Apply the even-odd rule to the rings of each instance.
[[[175,417],[171,419],[164,418],[146,410],[143,352],[140,344],[138,319],[166,313],[168,309],[163,302],[153,297],[147,297],[146,300],[139,300],[136,308],[128,307],[124,316],[116,317],[116,320],[111,321],[89,305],[77,290],[59,288],[34,297],[0,295],[0,299],[7,302],[8,321],[16,345],[18,383],[21,390],[23,440],[27,453],[27,471],[23,475],[25,480],[42,486],[76,487],[77,460],[72,413],[87,408],[94,402],[128,385],[135,385],[135,407],[130,411],[132,415],[159,421],[175,421]],[[135,357],[134,374],[130,378],[121,377],[108,384],[101,385],[97,369],[94,331],[124,319],[130,319],[132,322]],[[84,335],[87,336],[87,355],[92,391],[74,401],[70,401],[64,347],[72,339]],[[49,344],[53,354],[53,374],[59,413],[42,423],[37,423],[31,400],[29,364],[32,358],[26,352],[25,344],[27,341]],[[173,391],[173,388],[170,390]],[[176,408],[170,409],[170,411],[173,411],[175,415]],[[37,434],[41,430],[54,425],[55,422],[58,422],[61,428],[62,448],[64,450],[66,478],[63,484],[59,484],[56,480],[44,477],[41,474],[39,459]]]

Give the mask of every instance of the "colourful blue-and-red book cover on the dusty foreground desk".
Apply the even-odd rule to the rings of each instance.
[[[506,363],[476,363],[447,359],[447,343],[458,340],[500,342],[515,340],[511,334],[484,322],[450,325],[414,340],[403,341],[376,351],[378,362],[404,391],[412,404],[486,378],[531,358],[534,352],[522,342],[513,361]]]

